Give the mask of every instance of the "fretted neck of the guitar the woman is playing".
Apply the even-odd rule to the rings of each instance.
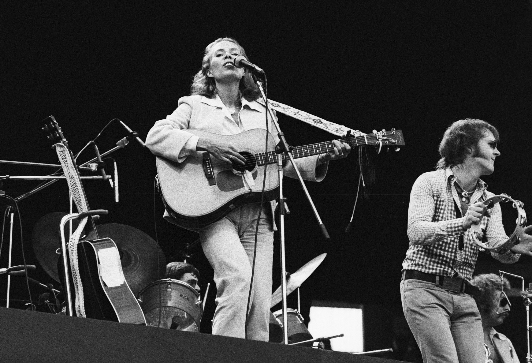
[[[347,138],[342,138],[338,140],[340,143],[350,144]],[[353,146],[367,145],[378,142],[378,139],[375,135],[362,135],[362,136],[352,136],[351,143]],[[326,141],[322,143],[308,144],[303,146],[294,147],[292,150],[292,155],[294,159],[304,158],[305,156],[318,155],[323,153],[328,153],[334,151],[334,143],[331,141]],[[275,151],[268,152],[268,159],[265,158],[264,153],[255,154],[258,165],[271,164],[277,162],[277,153]],[[282,153],[282,161],[289,160],[287,153]]]

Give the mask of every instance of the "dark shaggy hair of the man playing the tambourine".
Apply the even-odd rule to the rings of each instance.
[[[469,149],[473,150],[473,157],[478,155],[478,141],[485,136],[486,131],[492,131],[495,141],[499,143],[497,129],[483,120],[464,119],[458,120],[449,126],[439,143],[439,156],[436,170],[445,169],[462,163]]]

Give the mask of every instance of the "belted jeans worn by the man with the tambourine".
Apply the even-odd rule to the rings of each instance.
[[[425,363],[484,363],[484,333],[475,299],[434,283],[401,281],[401,302]]]

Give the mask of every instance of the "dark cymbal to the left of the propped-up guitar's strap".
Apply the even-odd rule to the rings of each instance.
[[[53,212],[41,217],[34,226],[31,233],[31,244],[33,246],[35,257],[40,266],[55,281],[59,282],[59,273],[57,273],[57,261],[61,253],[61,235],[59,234],[59,224],[61,218],[68,213]],[[72,231],[76,230],[79,225],[77,219],[72,220]],[[69,236],[69,224],[65,225],[65,237]],[[81,233],[83,236],[85,233]],[[56,252],[57,251],[57,252]]]

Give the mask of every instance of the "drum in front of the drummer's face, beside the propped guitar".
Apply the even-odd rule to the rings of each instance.
[[[138,297],[146,325],[200,332],[203,306],[192,286],[165,278],[149,284]]]

